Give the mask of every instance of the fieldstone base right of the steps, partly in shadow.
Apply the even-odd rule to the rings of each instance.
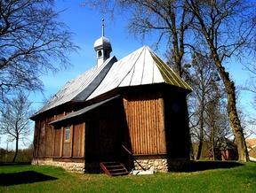
[[[167,173],[170,171],[183,171],[189,166],[188,159],[169,159],[169,158],[136,158],[133,161],[134,169],[141,170],[143,166],[146,170],[153,170],[155,172]],[[139,164],[140,165],[139,165]]]

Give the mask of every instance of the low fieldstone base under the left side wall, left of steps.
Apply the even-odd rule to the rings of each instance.
[[[85,172],[85,163],[53,161],[52,158],[33,158],[32,165],[39,166],[60,166],[67,171],[81,173]]]

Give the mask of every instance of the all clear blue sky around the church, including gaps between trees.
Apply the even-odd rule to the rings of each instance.
[[[66,10],[60,13],[60,20],[65,22],[70,31],[74,33],[73,41],[81,49],[77,53],[72,53],[69,58],[72,66],[67,70],[61,70],[58,73],[42,76],[44,82],[44,96],[42,93],[32,93],[30,100],[33,102],[33,107],[39,109],[45,98],[54,95],[67,81],[75,78],[78,74],[90,69],[96,64],[96,53],[93,49],[93,43],[101,36],[101,19],[105,19],[105,36],[107,36],[112,44],[112,53],[117,59],[123,58],[134,50],[147,44],[149,47],[156,42],[154,36],[148,37],[145,41],[140,38],[135,38],[128,33],[127,17],[115,16],[114,20],[109,18],[109,15],[102,14],[96,10],[91,10],[89,7],[81,6],[86,1],[80,0],[58,0],[56,1],[56,10]],[[164,59],[164,51],[166,45],[156,51],[160,58]],[[230,63],[228,71],[231,77],[235,80],[236,85],[243,86],[249,78],[249,73],[244,71],[244,66],[235,63]],[[252,94],[242,91],[240,94],[240,106],[245,114],[252,114]],[[252,114],[253,115],[253,114]],[[31,126],[34,127],[34,126]],[[33,132],[32,132],[33,133]],[[29,136],[29,141],[32,142],[33,134]],[[2,137],[0,147],[6,148],[5,139]],[[13,148],[9,144],[9,148]],[[22,146],[21,146],[22,147]]]

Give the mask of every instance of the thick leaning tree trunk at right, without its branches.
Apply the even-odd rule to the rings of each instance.
[[[233,134],[235,135],[235,138],[236,138],[238,160],[243,162],[249,161],[249,155],[248,155],[248,151],[247,151],[247,147],[244,139],[244,132],[243,132],[243,128],[241,127],[241,122],[239,120],[237,109],[236,109],[236,88],[235,88],[234,82],[229,79],[228,72],[226,72],[225,68],[222,66],[218,49],[216,47],[216,44],[214,44],[217,41],[217,39],[214,39],[215,32],[212,32],[212,30],[216,29],[216,32],[218,32],[218,27],[220,27],[220,25],[217,28],[214,28],[214,27],[216,27],[215,25],[218,25],[218,23],[215,23],[212,26],[213,28],[205,25],[204,17],[202,17],[201,15],[198,2],[187,1],[187,3],[192,8],[193,13],[198,19],[199,25],[201,26],[200,31],[202,31],[205,37],[205,40],[209,45],[215,66],[217,67],[220,73],[221,80],[225,85],[225,90],[228,95],[228,106],[227,106],[228,118],[229,118],[230,126],[232,127],[232,130],[233,130]],[[225,18],[227,18],[227,16]]]

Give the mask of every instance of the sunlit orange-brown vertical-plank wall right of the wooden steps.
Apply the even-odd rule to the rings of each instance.
[[[134,155],[166,153],[163,98],[125,97],[124,111]]]

